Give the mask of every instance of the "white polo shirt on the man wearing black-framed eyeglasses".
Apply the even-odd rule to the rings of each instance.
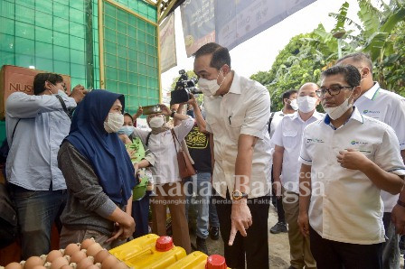
[[[325,239],[362,245],[384,242],[380,189],[363,172],[337,162],[339,151],[348,148],[362,152],[386,172],[405,174],[392,128],[362,116],[356,107],[338,129],[330,125],[329,116],[307,125],[299,161],[312,166],[309,223]]]

